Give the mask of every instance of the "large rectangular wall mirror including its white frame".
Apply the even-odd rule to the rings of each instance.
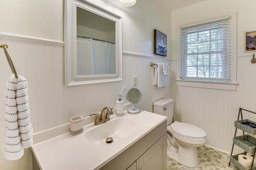
[[[66,0],[66,86],[121,80],[121,17],[86,1]]]

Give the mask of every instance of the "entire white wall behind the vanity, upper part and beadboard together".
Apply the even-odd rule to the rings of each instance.
[[[170,58],[153,56],[153,30],[159,29],[170,37],[171,12],[168,2],[140,0],[134,7],[120,7],[117,1],[90,1],[123,17],[123,81],[66,88],[63,86],[63,46],[36,39],[6,37],[1,33],[63,40],[63,1],[1,1],[0,43],[8,43],[18,74],[29,82],[31,118],[38,132],[68,123],[73,115],[88,116],[104,106],[115,106],[118,94],[125,96],[132,77],[138,77],[143,98],[139,107],[152,111],[153,101],[170,96],[169,88],[153,86],[150,62],[170,62]],[[145,5],[146,4],[146,5]],[[159,5],[161,4],[161,5]],[[168,39],[170,40],[170,38]],[[169,41],[170,42],[170,41]],[[170,43],[168,43],[170,44]],[[169,46],[170,47],[170,46]],[[170,48],[168,48],[170,51]],[[138,53],[148,55],[131,54]],[[0,51],[0,148],[2,148],[5,84],[11,74],[3,50]],[[31,169],[30,152],[19,161],[7,161],[0,153],[0,169]]]

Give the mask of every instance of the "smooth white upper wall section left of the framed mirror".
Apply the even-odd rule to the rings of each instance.
[[[0,1],[1,33],[63,41],[63,1]]]

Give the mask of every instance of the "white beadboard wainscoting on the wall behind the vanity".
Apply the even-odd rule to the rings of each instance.
[[[104,106],[115,107],[118,94],[125,98],[132,87],[132,77],[138,77],[142,92],[139,108],[152,111],[152,103],[170,97],[170,88],[153,85],[154,67],[150,62],[170,61],[125,52],[123,54],[123,81],[66,88],[63,84],[63,44],[33,37],[1,36],[0,43],[9,45],[9,52],[19,75],[29,83],[29,104],[34,132],[69,122],[74,115],[98,113]],[[4,142],[4,100],[6,82],[11,75],[4,51],[0,51],[0,148]],[[124,99],[124,101],[126,101]],[[127,103],[127,102],[125,102]],[[18,161],[7,161],[0,153],[0,169],[32,170],[31,152]]]

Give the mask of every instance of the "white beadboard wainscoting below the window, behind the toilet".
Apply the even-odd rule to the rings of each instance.
[[[256,64],[251,64],[251,56],[237,58],[237,91],[176,86],[172,94],[177,97],[175,119],[204,129],[206,144],[226,153],[231,152],[239,107],[256,111]],[[176,61],[172,61],[172,79],[175,65]],[[243,111],[243,118],[255,121],[256,115]],[[242,135],[241,131],[239,134]]]

